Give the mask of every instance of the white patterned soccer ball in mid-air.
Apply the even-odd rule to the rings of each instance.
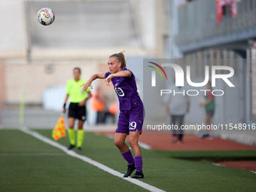
[[[55,20],[55,14],[50,8],[41,8],[37,17],[38,22],[44,26],[49,26]]]

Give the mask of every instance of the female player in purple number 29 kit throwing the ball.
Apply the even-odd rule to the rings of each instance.
[[[84,90],[88,87],[93,89],[92,82],[96,78],[105,78],[106,85],[112,81],[114,90],[119,99],[120,114],[117,122],[117,129],[114,135],[114,144],[119,148],[123,158],[128,163],[128,169],[123,177],[128,177],[136,169],[132,178],[144,178],[142,173],[142,151],[139,148],[139,135],[142,134],[142,125],[144,119],[144,108],[142,100],[137,92],[135,76],[133,72],[126,69],[126,60],[123,52],[114,53],[108,58],[109,72],[94,74],[90,79],[82,84]],[[129,136],[130,146],[133,148],[133,154],[130,148],[125,144],[126,136]]]

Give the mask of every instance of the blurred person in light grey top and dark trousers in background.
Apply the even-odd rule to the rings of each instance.
[[[175,84],[175,80],[174,80]],[[166,94],[166,114],[171,117],[171,124],[178,126],[178,134],[176,130],[172,130],[172,143],[178,141],[178,145],[181,145],[183,138],[183,130],[181,125],[184,125],[184,115],[189,112],[190,100],[187,94],[182,94],[184,89],[181,87],[175,87],[175,85],[169,87],[172,93]],[[178,94],[174,95],[174,92]],[[184,90],[186,93],[186,90]]]

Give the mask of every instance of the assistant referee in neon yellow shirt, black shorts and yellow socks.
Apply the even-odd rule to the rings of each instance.
[[[90,93],[90,87],[86,91],[83,90],[83,87],[80,87],[81,84],[84,84],[86,80],[81,79],[81,69],[76,67],[73,70],[74,78],[67,82],[66,87],[66,99],[63,105],[62,113],[66,113],[66,102],[70,101],[69,105],[69,150],[76,147],[78,151],[81,151],[81,147],[84,141],[84,130],[83,125],[86,120],[87,111],[86,111],[86,102],[92,96]],[[69,98],[70,97],[70,98]],[[74,124],[75,119],[78,119],[78,133],[77,133],[77,142],[75,143],[75,130]]]

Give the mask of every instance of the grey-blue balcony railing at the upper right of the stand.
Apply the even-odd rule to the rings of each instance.
[[[191,50],[203,45],[232,43],[256,37],[255,0],[237,2],[236,18],[231,17],[228,7],[219,25],[216,24],[216,17],[214,0],[197,0],[178,8],[178,35],[175,43],[183,47],[184,51],[188,44]]]

